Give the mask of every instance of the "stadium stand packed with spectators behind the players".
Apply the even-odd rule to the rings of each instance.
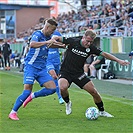
[[[41,17],[40,17],[41,18]],[[63,36],[78,36],[88,29],[94,29],[102,36],[133,36],[132,0],[112,0],[110,4],[91,6],[90,9],[72,10],[57,16],[58,31]],[[42,28],[42,21],[27,31],[18,34],[18,38],[30,36],[34,30]]]

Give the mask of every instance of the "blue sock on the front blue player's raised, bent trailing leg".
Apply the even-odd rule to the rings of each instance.
[[[44,97],[44,96],[52,95],[55,92],[56,92],[56,89],[43,88],[37,92],[34,92],[34,96],[35,96],[35,98]]]

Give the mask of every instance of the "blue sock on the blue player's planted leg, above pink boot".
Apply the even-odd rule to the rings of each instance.
[[[26,98],[30,95],[31,90],[24,90],[23,93],[17,98],[16,103],[13,106],[14,111],[18,111],[20,106],[23,104],[23,102],[26,100]]]

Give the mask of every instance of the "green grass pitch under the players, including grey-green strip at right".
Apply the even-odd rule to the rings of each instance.
[[[8,119],[13,104],[23,90],[22,74],[0,71],[0,133],[130,133],[133,132],[132,85],[94,80],[105,110],[114,118],[99,117],[90,121],[85,111],[95,106],[92,97],[74,84],[69,88],[72,114],[65,114],[65,106],[57,95],[34,99],[26,108],[20,108],[19,121]],[[35,83],[33,91],[40,87]],[[96,106],[95,106],[96,107]]]

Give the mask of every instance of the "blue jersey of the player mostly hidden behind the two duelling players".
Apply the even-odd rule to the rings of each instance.
[[[61,36],[60,32],[54,31],[52,36]],[[49,48],[47,62],[60,65],[60,53],[58,48]]]

